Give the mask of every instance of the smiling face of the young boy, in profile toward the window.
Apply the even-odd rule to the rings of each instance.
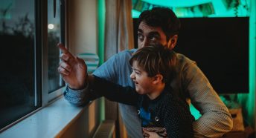
[[[137,93],[146,94],[153,92],[153,77],[147,76],[147,72],[138,66],[136,60],[132,62],[132,73],[130,77],[135,83],[135,90]]]

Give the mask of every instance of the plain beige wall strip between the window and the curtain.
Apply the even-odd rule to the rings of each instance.
[[[68,1],[68,48],[71,53],[97,53],[97,1]]]

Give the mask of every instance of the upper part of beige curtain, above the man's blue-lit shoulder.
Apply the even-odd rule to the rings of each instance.
[[[132,0],[106,0],[105,28],[105,60],[134,47]]]

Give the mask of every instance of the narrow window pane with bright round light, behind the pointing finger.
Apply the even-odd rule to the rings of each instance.
[[[54,5],[55,17],[54,17]],[[60,50],[57,44],[60,42],[60,1],[48,0],[48,92],[51,93],[61,86],[63,81],[57,68],[60,62]]]

